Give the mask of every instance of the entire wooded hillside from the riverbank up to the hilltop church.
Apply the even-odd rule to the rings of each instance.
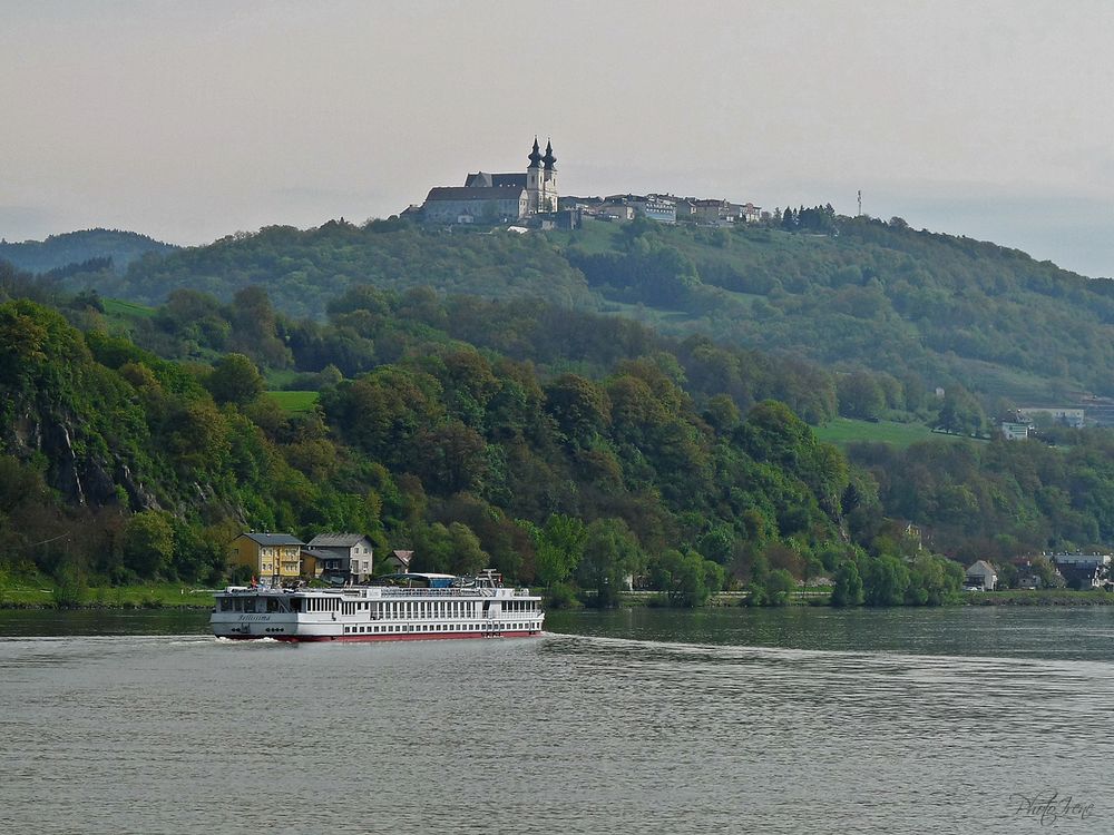
[[[0,262],[0,563],[216,581],[244,528],[350,529],[555,600],[634,576],[682,605],[820,577],[837,603],[941,602],[962,571],[937,554],[1114,537],[1108,431],[962,440],[1010,395],[1105,391],[1107,284],[819,208],[275,227],[123,273]],[[312,394],[293,411],[267,389]],[[955,434],[844,453],[807,425],[837,414]]]

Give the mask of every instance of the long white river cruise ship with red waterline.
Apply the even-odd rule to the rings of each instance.
[[[404,574],[410,584],[338,589],[229,586],[209,622],[218,638],[375,641],[541,635],[541,597],[498,574]],[[413,586],[412,583],[420,583]]]

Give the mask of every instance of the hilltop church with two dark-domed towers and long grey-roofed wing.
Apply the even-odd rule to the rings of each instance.
[[[422,204],[429,223],[470,224],[521,220],[557,210],[557,157],[551,141],[541,154],[534,137],[525,174],[469,174],[463,186],[431,188]]]

